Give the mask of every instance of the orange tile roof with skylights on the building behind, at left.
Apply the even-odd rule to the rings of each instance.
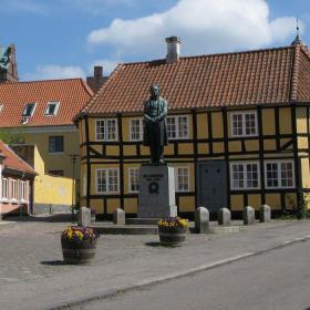
[[[0,83],[0,127],[53,126],[72,124],[72,118],[93,95],[82,79]],[[49,101],[59,101],[55,116],[45,116]],[[37,103],[33,116],[22,124],[28,103]]]

